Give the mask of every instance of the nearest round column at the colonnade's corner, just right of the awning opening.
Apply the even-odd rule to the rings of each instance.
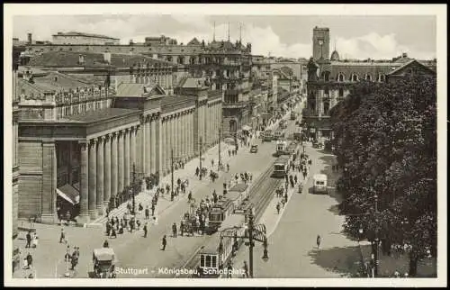
[[[78,223],[89,222],[89,144],[87,142],[80,143],[80,214]]]

